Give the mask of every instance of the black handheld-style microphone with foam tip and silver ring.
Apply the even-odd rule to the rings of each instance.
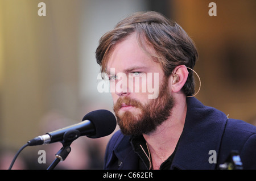
[[[80,136],[100,138],[113,133],[117,121],[112,112],[96,110],[87,113],[81,123],[48,132],[27,142],[29,146],[51,144],[58,141],[73,141]]]

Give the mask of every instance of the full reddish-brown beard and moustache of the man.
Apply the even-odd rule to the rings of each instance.
[[[123,103],[133,106],[141,112],[137,115],[130,111],[119,114],[118,111]],[[114,112],[117,117],[117,124],[123,134],[139,136],[154,132],[160,124],[171,116],[174,105],[175,100],[168,90],[168,77],[164,77],[158,98],[151,99],[148,104],[143,106],[138,100],[123,96],[118,98],[117,103],[114,104]]]

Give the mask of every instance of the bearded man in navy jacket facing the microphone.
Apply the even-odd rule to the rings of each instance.
[[[101,37],[96,58],[121,129],[104,169],[220,169],[233,150],[234,169],[256,169],[256,128],[193,97],[197,57],[187,33],[157,12],[132,14]]]

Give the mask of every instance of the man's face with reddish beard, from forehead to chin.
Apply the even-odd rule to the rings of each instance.
[[[174,99],[168,78],[160,64],[139,47],[135,34],[115,45],[106,70],[123,134],[150,133],[170,116]]]

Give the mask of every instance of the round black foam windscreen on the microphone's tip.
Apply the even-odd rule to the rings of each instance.
[[[115,116],[108,110],[96,110],[89,112],[82,119],[82,121],[84,120],[90,120],[96,129],[96,134],[88,136],[89,138],[108,136],[113,133],[117,126]]]

